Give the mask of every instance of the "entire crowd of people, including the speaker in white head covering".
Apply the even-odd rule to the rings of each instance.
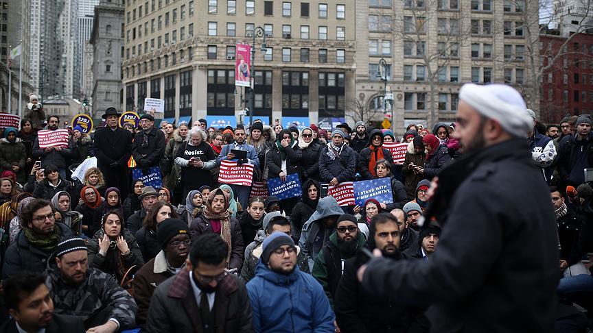
[[[0,332],[588,330],[588,115],[544,125],[513,88],[467,84],[456,123],[401,137],[362,121],[120,127],[108,108],[40,148],[60,117],[30,101],[0,129]],[[402,164],[385,143],[407,145]],[[219,183],[222,160],[264,186],[298,175],[302,196]],[[160,186],[134,176],[154,168]],[[379,178],[387,202],[327,195]]]

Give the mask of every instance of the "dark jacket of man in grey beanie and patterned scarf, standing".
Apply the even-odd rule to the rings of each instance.
[[[337,178],[338,182],[351,182],[354,180],[356,170],[356,153],[347,145],[342,145],[340,156],[334,156],[329,151],[329,145],[321,149],[319,155],[319,175],[321,182],[331,182]]]

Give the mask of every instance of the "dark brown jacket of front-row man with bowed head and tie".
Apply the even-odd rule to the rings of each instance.
[[[156,287],[146,323],[151,333],[204,332],[192,283],[189,271],[183,269]],[[249,295],[234,274],[218,282],[212,311],[216,333],[253,332]]]

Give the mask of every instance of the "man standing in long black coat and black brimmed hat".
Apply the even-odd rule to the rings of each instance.
[[[119,112],[108,108],[102,118],[106,126],[95,131],[95,156],[97,168],[103,173],[105,186],[117,187],[121,197],[128,197],[128,160],[132,153],[132,134],[117,125]]]

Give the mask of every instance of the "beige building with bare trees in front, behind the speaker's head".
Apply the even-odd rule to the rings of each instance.
[[[528,39],[526,21],[538,31],[537,5],[528,1],[528,13],[521,1],[356,1],[358,105],[367,118],[382,121],[383,91],[391,91],[385,113],[404,134],[411,123],[432,130],[437,122],[454,122],[465,82],[528,91],[528,47],[537,46],[537,34]]]

